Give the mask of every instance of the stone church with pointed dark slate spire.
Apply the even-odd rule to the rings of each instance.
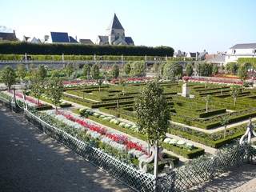
[[[131,37],[126,37],[125,30],[119,22],[118,17],[114,14],[114,18],[110,22],[110,26],[106,29],[106,35],[98,35],[96,40],[98,45],[128,45],[134,46]]]

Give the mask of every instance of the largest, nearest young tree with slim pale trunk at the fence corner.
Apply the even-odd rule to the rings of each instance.
[[[169,128],[170,111],[163,89],[157,81],[149,82],[134,101],[137,125],[146,134],[150,146],[155,146],[154,175],[158,174],[158,142],[166,137]]]

